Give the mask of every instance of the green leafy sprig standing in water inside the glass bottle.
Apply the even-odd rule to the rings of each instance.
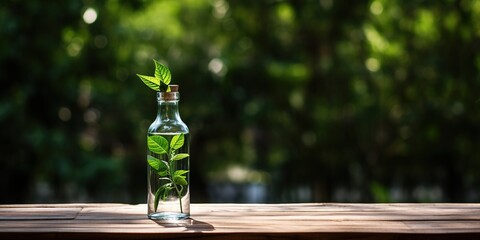
[[[151,155],[147,156],[148,164],[158,174],[160,180],[166,180],[167,183],[160,186],[155,192],[154,208],[157,211],[160,199],[165,201],[170,191],[175,190],[180,201],[180,212],[183,213],[182,192],[184,186],[188,185],[186,174],[188,170],[176,169],[175,162],[189,157],[187,153],[177,153],[185,143],[184,134],[173,136],[170,143],[162,136],[153,135],[147,137],[148,149],[156,154],[167,154],[167,161],[160,160]]]

